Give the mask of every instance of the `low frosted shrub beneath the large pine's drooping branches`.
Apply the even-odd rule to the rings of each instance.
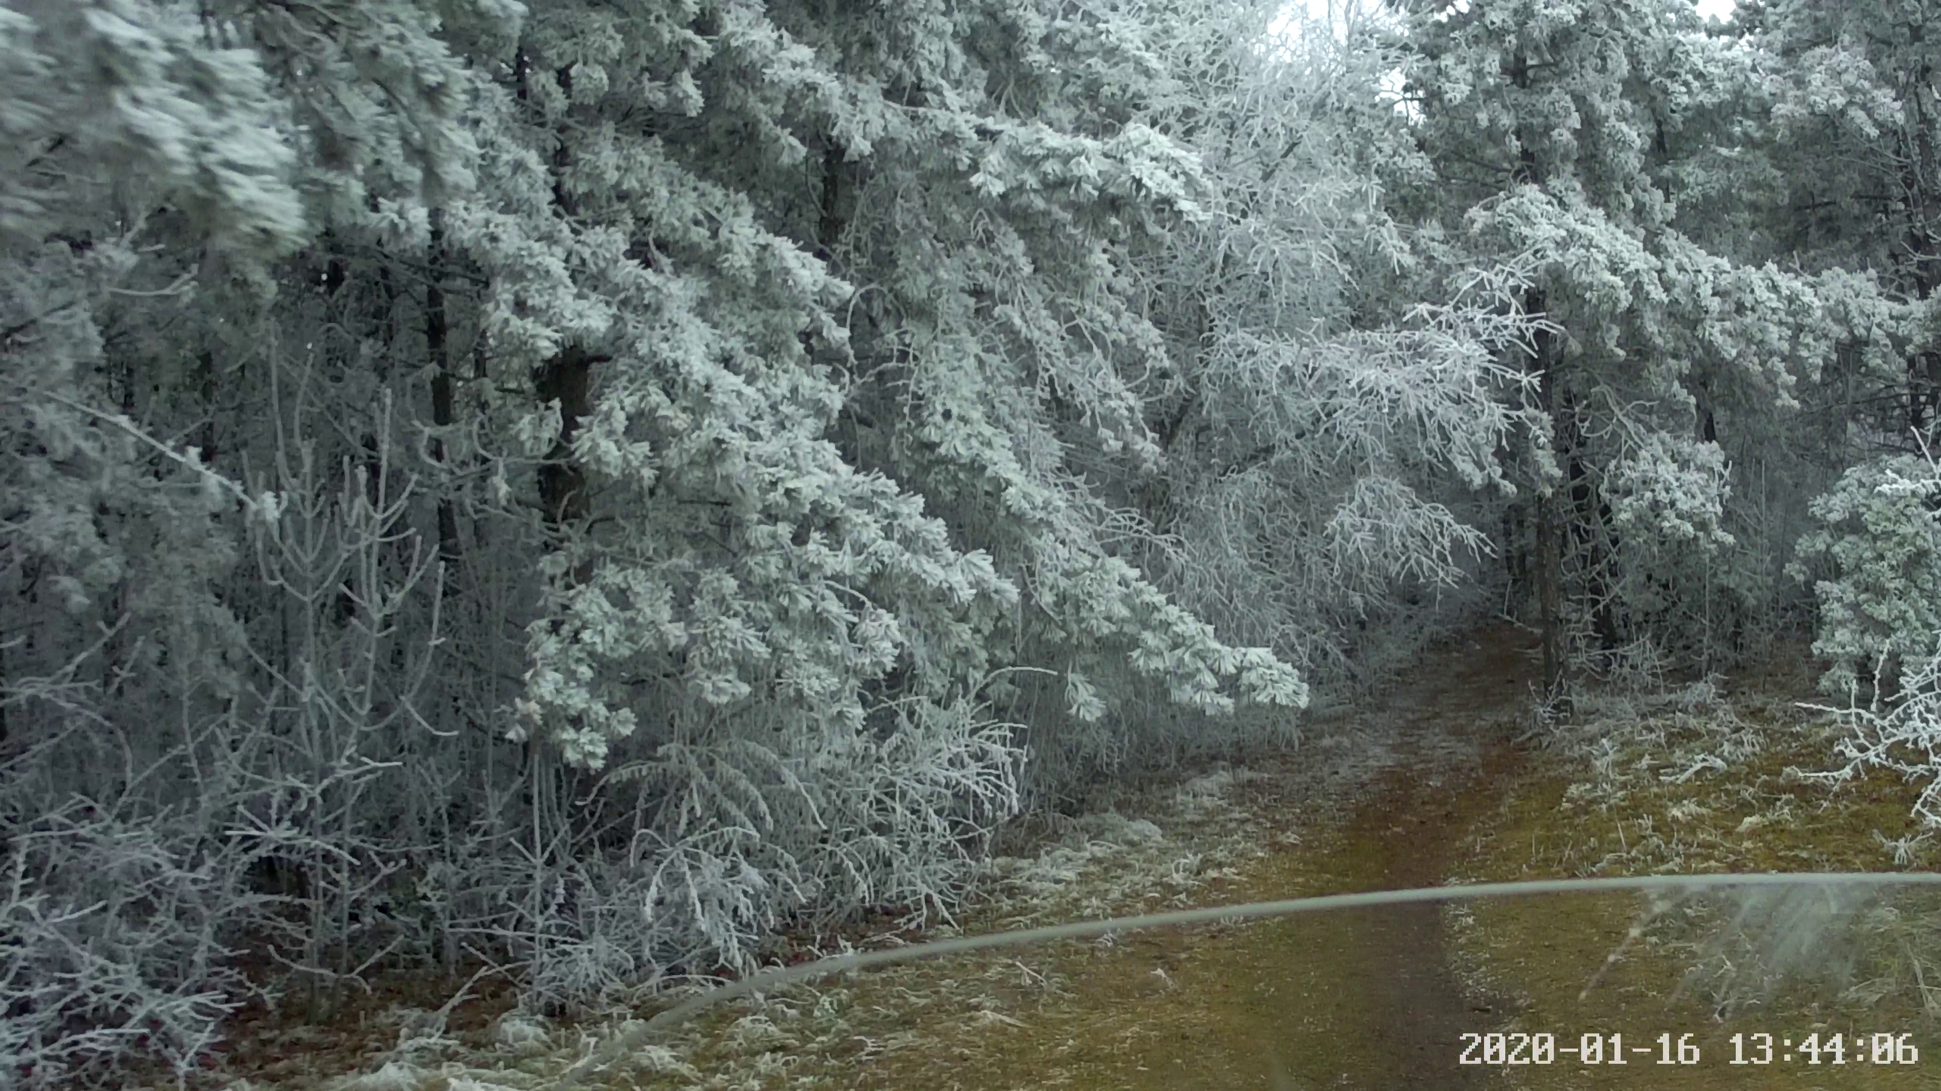
[[[893,726],[879,734],[771,755],[771,769],[788,775],[761,782],[734,784],[703,775],[705,765],[679,771],[672,749],[656,769],[615,771],[621,782],[679,784],[670,804],[681,817],[642,829],[633,852],[656,961],[708,951],[745,965],[784,914],[947,912],[990,833],[1017,813],[1023,753],[1013,724],[982,705],[905,701],[887,712]],[[670,782],[675,773],[683,780]],[[666,947],[677,938],[687,949]]]

